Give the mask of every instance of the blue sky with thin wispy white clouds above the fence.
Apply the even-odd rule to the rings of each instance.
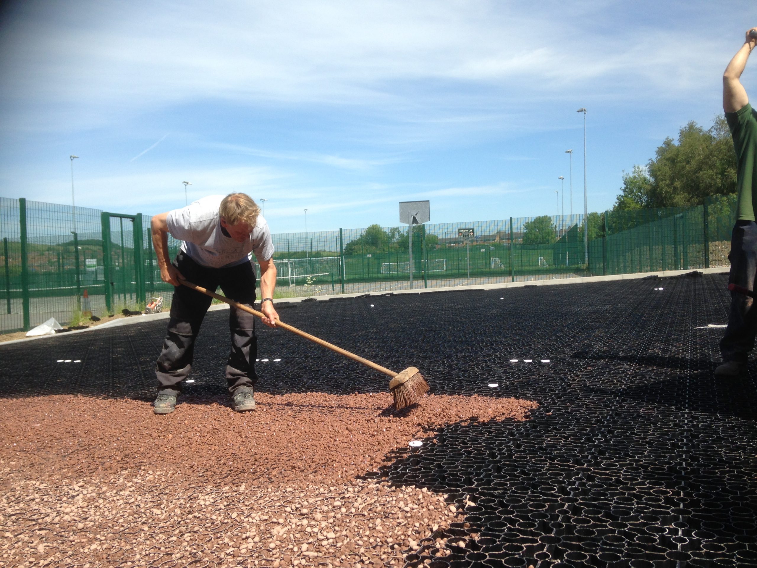
[[[583,211],[689,120],[754,2],[6,2],[0,195],[156,214],[231,191],[275,233]],[[757,85],[752,61],[743,76]],[[562,212],[562,211],[561,211]]]

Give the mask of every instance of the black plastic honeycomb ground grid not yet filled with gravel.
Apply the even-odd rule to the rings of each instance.
[[[481,532],[477,542],[447,545],[444,560],[423,543],[412,563],[757,566],[755,382],[715,380],[722,329],[695,329],[724,323],[725,285],[714,275],[335,298],[279,313],[394,370],[419,367],[434,392],[542,405],[526,423],[448,426],[437,445],[377,473],[475,503],[470,526],[445,536]],[[2,395],[149,400],[165,324],[0,347]],[[208,314],[185,400],[225,398],[226,325],[225,312]],[[317,345],[259,333],[262,391],[386,389],[385,377]]]

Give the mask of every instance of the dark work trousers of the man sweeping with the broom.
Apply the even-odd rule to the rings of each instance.
[[[250,261],[229,268],[207,268],[180,251],[173,265],[189,282],[210,292],[215,292],[220,286],[226,298],[250,307],[255,301],[255,271]],[[155,365],[158,394],[179,395],[182,392],[182,381],[192,369],[195,338],[211,301],[213,298],[210,296],[186,286],[176,286],[173,289],[168,332],[163,352]],[[226,362],[226,382],[229,384],[229,392],[235,395],[250,389],[257,382],[254,315],[229,306],[229,330],[232,346]]]

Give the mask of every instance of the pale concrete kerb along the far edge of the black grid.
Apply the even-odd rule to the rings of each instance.
[[[581,284],[584,282],[611,282],[613,280],[632,280],[632,279],[643,279],[648,278],[649,276],[659,276],[660,278],[670,277],[670,276],[682,276],[684,274],[689,274],[692,272],[701,272],[703,274],[718,274],[718,273],[728,273],[727,267],[716,267],[716,268],[696,268],[693,270],[661,270],[659,272],[642,272],[642,273],[633,273],[633,274],[610,274],[608,276],[580,276],[578,278],[563,278],[563,279],[554,279],[554,280],[529,280],[525,282],[497,282],[494,284],[472,284],[471,286],[446,286],[444,288],[422,288],[422,289],[413,289],[413,290],[394,290],[391,293],[398,295],[398,294],[424,294],[427,292],[459,292],[460,290],[497,290],[497,289],[508,289],[508,288],[525,288],[525,286],[533,287],[533,286],[561,286],[561,285],[567,285],[567,284]],[[302,301],[312,301],[315,299],[316,301],[326,301],[330,298],[359,298],[361,296],[368,297],[368,296],[382,296],[386,295],[390,292],[357,292],[354,294],[332,294],[332,295],[313,295],[313,296],[301,296],[299,298],[277,298],[274,300],[274,304],[285,304],[287,302],[297,303]],[[214,304],[208,308],[208,311],[217,311],[217,310],[228,310],[229,305],[228,304]],[[117,326],[129,326],[133,323],[143,323],[146,321],[152,321],[152,320],[166,320],[170,316],[169,312],[161,312],[160,314],[142,314],[141,316],[130,316],[130,317],[123,317],[119,318],[117,320],[109,321],[106,323],[102,323],[99,326],[89,327],[87,329],[74,329],[73,331],[67,332],[68,333],[86,333],[86,332],[95,332],[98,329],[109,329],[111,327],[117,327]],[[3,342],[0,343],[0,347],[2,345],[9,345],[11,343],[19,343],[19,342],[30,342],[30,341],[36,341],[39,339],[46,339],[49,337],[58,337],[61,334],[55,334],[55,335],[39,335],[38,337],[26,337],[23,339],[14,339],[13,341],[9,342]]]

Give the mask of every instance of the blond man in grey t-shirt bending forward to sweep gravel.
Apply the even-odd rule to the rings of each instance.
[[[182,240],[173,264],[168,257],[168,233]],[[195,339],[212,298],[182,286],[187,279],[215,292],[220,286],[227,298],[252,306],[255,301],[255,269],[251,255],[260,264],[260,294],[263,323],[273,327],[279,314],[273,307],[276,266],[268,223],[260,208],[244,193],[210,195],[185,208],[152,218],[152,242],[160,266],[160,277],[175,286],[171,317],[163,352],[157,358],[155,375],[159,383],[153,405],[155,414],[169,414],[176,408],[182,382],[192,369]],[[254,410],[253,385],[257,381],[255,317],[229,307],[231,351],[226,363],[226,382],[232,408]]]

